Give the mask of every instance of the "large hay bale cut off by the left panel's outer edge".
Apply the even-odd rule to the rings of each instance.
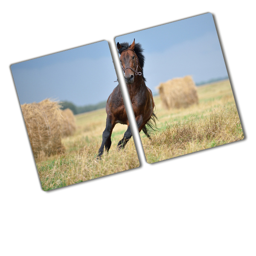
[[[50,156],[64,151],[61,144],[61,115],[58,102],[45,99],[21,105],[34,157]]]

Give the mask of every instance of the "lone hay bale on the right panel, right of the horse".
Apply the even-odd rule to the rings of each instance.
[[[187,108],[192,104],[198,104],[197,88],[191,76],[166,81],[157,89],[162,105],[166,109]]]

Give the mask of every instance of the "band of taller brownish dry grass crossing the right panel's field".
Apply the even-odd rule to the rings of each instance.
[[[225,142],[241,140],[240,120],[236,108],[223,108],[212,112],[209,119],[195,120],[193,116],[184,123],[167,124],[165,131],[152,137],[151,145],[169,145],[185,148],[189,142],[204,140],[224,140]],[[240,128],[239,128],[240,127]]]

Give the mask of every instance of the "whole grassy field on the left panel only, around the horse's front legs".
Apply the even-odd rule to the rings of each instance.
[[[81,181],[110,175],[140,166],[133,139],[125,149],[116,150],[127,125],[117,124],[112,133],[112,145],[102,160],[96,160],[106,125],[105,109],[75,116],[77,129],[62,139],[66,154],[37,159],[38,173],[44,190],[56,189]]]

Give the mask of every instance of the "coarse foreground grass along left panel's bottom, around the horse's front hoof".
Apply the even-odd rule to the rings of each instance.
[[[129,142],[130,143],[130,142]],[[113,147],[101,160],[96,160],[99,144],[87,145],[76,154],[67,153],[48,164],[38,163],[38,173],[44,190],[91,180],[138,167],[139,161],[134,143],[125,150]]]

